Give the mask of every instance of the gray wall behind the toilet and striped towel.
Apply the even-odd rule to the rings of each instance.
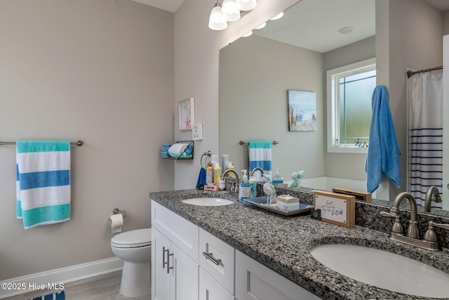
[[[72,148],[72,216],[15,219],[15,146],[0,147],[0,280],[113,257],[107,221],[150,226],[150,190],[173,190],[173,13],[129,0],[0,1],[0,141]]]

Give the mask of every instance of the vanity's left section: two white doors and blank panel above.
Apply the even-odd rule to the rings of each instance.
[[[152,202],[152,299],[198,299],[198,230],[198,226]],[[192,249],[196,250],[193,257],[189,255]]]

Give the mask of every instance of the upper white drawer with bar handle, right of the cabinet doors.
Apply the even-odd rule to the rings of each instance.
[[[201,228],[199,265],[234,295],[234,248]]]

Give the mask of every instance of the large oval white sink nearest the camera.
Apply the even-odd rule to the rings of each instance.
[[[310,250],[324,266],[368,285],[415,296],[449,298],[449,275],[432,266],[379,249],[324,244]]]

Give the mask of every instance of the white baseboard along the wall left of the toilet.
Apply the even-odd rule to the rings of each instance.
[[[118,257],[81,263],[76,266],[49,270],[0,282],[0,299],[25,294],[36,289],[48,287],[63,287],[60,283],[68,283],[85,278],[91,278],[106,273],[111,273],[123,268],[123,261]]]

